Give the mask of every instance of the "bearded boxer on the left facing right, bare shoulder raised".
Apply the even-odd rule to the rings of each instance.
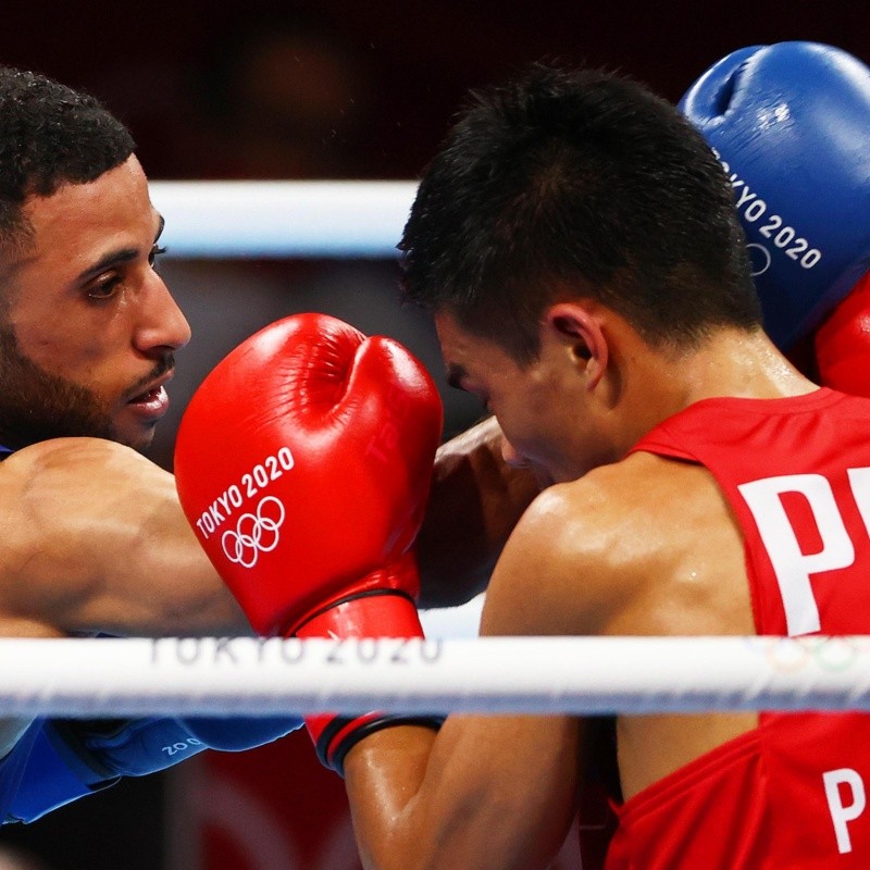
[[[95,100],[0,70],[0,634],[250,634],[140,456],[187,322],[154,271],[162,219]],[[33,821],[291,718],[0,721],[0,821]]]

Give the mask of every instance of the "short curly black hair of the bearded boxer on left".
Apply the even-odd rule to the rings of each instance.
[[[136,147],[95,97],[39,73],[0,66],[0,245],[22,245],[22,206],[63,184],[92,182]]]

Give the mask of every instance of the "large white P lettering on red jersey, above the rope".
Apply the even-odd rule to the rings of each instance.
[[[852,495],[870,535],[870,468],[848,469]],[[830,481],[822,474],[762,477],[737,487],[755,518],[776,575],[790,637],[821,631],[810,577],[848,568],[855,561],[849,537]],[[797,493],[807,501],[821,538],[821,549],[804,552],[782,496]]]

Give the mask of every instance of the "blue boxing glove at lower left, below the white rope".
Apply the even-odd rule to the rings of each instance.
[[[301,724],[286,717],[36,720],[0,761],[2,822],[35,821],[122,776],[154,773],[203,749],[251,749]]]

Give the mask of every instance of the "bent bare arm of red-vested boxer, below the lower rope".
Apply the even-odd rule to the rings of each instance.
[[[576,723],[461,717],[366,737],[345,773],[366,870],[549,866],[573,818]]]

